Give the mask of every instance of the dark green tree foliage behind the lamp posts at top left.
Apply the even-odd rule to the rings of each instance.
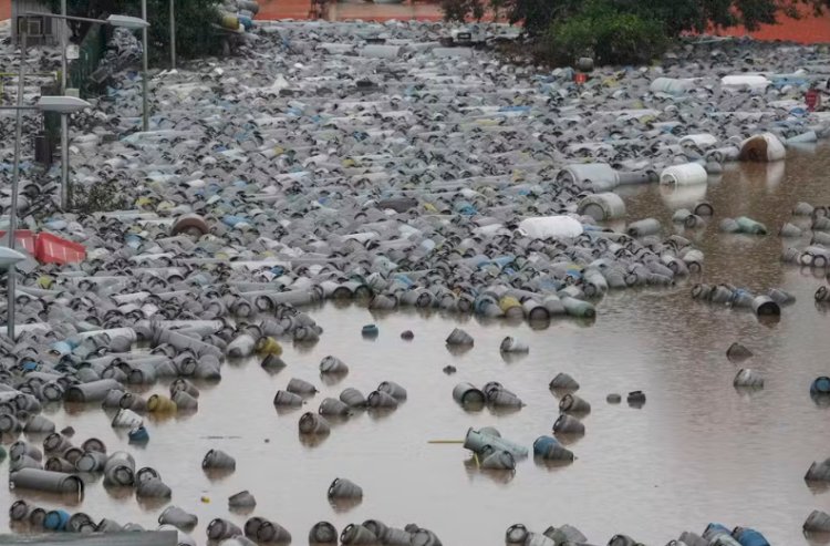
[[[170,47],[170,0],[147,0],[147,31],[149,55],[154,61],[169,59]],[[49,8],[59,12],[60,0],[48,0]],[[108,14],[142,16],[138,0],[68,0],[70,16],[104,19]],[[181,58],[196,58],[215,54],[219,51],[211,23],[219,19],[216,0],[176,0],[176,54]],[[74,23],[73,41],[77,42],[86,33],[89,23]]]

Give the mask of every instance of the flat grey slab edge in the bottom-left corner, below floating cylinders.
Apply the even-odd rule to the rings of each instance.
[[[38,546],[176,546],[175,530],[0,535],[0,544]]]

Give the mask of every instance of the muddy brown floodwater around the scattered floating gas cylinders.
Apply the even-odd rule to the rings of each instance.
[[[624,197],[630,220],[654,216],[672,229],[672,210],[704,195],[715,206],[715,218],[705,229],[683,234],[706,254],[702,279],[791,291],[798,302],[784,309],[777,324],[693,301],[695,279],[671,289],[611,293],[592,326],[562,320],[542,330],[437,312],[373,315],[355,305],[330,305],[311,311],[325,329],[319,343],[287,347],[288,367],[273,375],[257,360],[226,364],[219,384],[203,385],[197,414],[149,422],[144,449],[128,446],[100,409],[66,413],[59,405],[45,413],[59,427],[74,426],[77,437],[98,436],[111,452],[127,449],[137,465],[156,467],[173,488],[173,504],[199,516],[193,534],[200,544],[210,518],[229,517],[240,526],[246,521],[229,515],[227,506],[228,496],[241,490],[256,496],[253,513],[287,527],[294,544],[305,544],[320,519],[342,529],[371,517],[395,526],[418,523],[450,546],[502,544],[513,523],[539,532],[570,523],[595,544],[625,533],[658,545],[684,529],[701,533],[707,523],[722,522],[755,527],[776,545],[805,544],[807,515],[813,508],[830,511],[830,492],[813,491],[802,478],[812,461],[830,456],[830,409],[815,405],[808,393],[812,379],[830,374],[830,316],[812,299],[822,278],[779,262],[782,245],[792,241],[776,235],[725,236],[717,222],[746,215],[776,233],[796,202],[830,204],[830,147],[791,152],[786,163],[770,166],[735,165],[708,187],[667,192],[650,185]],[[374,341],[360,332],[370,322],[380,328]],[[453,356],[444,339],[459,322],[476,343]],[[400,338],[406,329],[415,332],[411,342]],[[507,334],[528,341],[530,353],[505,360],[498,347]],[[736,340],[755,352],[745,365],[765,377],[764,390],[733,388],[737,367],[725,352]],[[351,369],[336,384],[319,377],[326,354]],[[454,375],[442,372],[449,363],[458,369]],[[547,467],[530,459],[519,463],[515,475],[494,476],[466,464],[468,453],[460,445],[427,443],[461,439],[468,426],[495,425],[530,446],[551,432],[558,410],[547,385],[560,371],[581,383],[579,395],[593,405],[584,419],[587,434],[569,445],[578,456],[573,464]],[[345,387],[367,394],[384,380],[404,385],[408,401],[391,414],[357,414],[318,445],[308,445],[297,429],[305,410],[278,412],[272,405],[276,391],[292,377],[321,389],[305,406],[311,411]],[[456,383],[490,380],[527,405],[494,414],[468,413],[454,403]],[[166,388],[158,384],[147,394]],[[647,395],[640,410],[605,403],[608,393],[636,389]],[[234,474],[206,476],[200,461],[211,447],[237,459]],[[326,488],[338,476],[363,487],[361,505],[345,512],[330,506]],[[210,502],[200,502],[203,496]],[[15,497],[14,492],[0,496],[0,511],[6,513]],[[43,504],[56,505],[54,499]],[[147,527],[163,507],[142,505],[132,493],[111,496],[100,481],[87,486],[80,505],[96,521],[111,517]],[[8,519],[2,525],[8,527]]]

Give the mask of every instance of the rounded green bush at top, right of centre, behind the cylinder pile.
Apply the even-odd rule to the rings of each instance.
[[[552,23],[540,53],[560,65],[580,56],[592,56],[598,64],[642,64],[663,53],[667,44],[658,21],[592,2],[581,14]]]

